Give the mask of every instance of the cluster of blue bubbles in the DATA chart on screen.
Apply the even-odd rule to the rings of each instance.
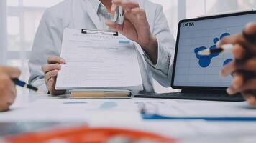
[[[229,35],[230,35],[229,33],[224,33],[224,34],[221,34],[221,36],[219,38],[218,37],[214,38],[213,39],[214,45],[212,45],[209,49],[216,49],[217,48],[216,43],[219,40],[223,39],[225,36],[229,36]],[[210,54],[209,56],[201,56],[198,54],[199,51],[203,51],[205,49],[207,49],[206,46],[200,46],[194,50],[194,52],[196,54],[196,58],[199,60],[198,64],[202,68],[208,67],[211,64],[211,60],[213,60],[214,57],[219,56],[219,54],[220,54],[220,53],[214,53],[214,54]],[[223,63],[223,66],[225,66],[226,64],[229,64],[229,62],[231,62],[231,61],[232,61],[232,59],[226,59]]]

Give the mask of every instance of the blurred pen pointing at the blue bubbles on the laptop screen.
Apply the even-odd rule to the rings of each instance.
[[[215,53],[230,52],[233,49],[233,47],[234,47],[233,44],[224,44],[221,47],[216,49],[205,49],[203,51],[199,51],[198,54],[201,56],[208,56],[210,54],[215,54]]]

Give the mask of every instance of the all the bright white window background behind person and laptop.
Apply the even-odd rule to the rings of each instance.
[[[0,63],[17,66],[22,70],[21,79],[28,80],[27,61],[32,41],[40,23],[43,11],[47,7],[63,0],[1,0],[0,1]],[[217,14],[234,10],[256,8],[255,0],[150,0],[163,5],[170,29],[176,36],[178,21],[205,14]],[[6,6],[6,7],[5,7]],[[4,11],[6,8],[6,11]],[[6,43],[6,44],[3,44]],[[160,87],[157,92],[171,89]]]

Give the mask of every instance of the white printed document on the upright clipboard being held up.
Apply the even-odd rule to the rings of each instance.
[[[136,46],[120,34],[65,29],[60,56],[56,89],[143,89]]]

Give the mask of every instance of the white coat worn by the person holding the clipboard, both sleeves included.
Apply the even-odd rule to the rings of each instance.
[[[135,0],[145,9],[152,34],[158,40],[158,61],[153,65],[140,46],[140,69],[142,71],[143,92],[154,92],[152,79],[164,87],[170,87],[173,67],[174,45],[168,22],[163,14],[162,6],[148,0]],[[29,83],[46,89],[41,66],[47,64],[49,56],[60,56],[63,30],[70,29],[103,29],[96,9],[90,0],[65,0],[45,11],[35,35],[32,55],[29,59]]]

